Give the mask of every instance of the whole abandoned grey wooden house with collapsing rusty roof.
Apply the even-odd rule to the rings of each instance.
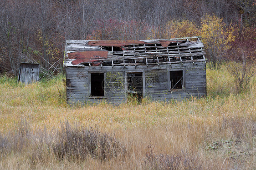
[[[67,102],[125,102],[206,95],[200,37],[164,40],[67,40]]]

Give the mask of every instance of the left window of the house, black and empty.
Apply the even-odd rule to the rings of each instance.
[[[91,73],[91,96],[105,96],[104,73]]]

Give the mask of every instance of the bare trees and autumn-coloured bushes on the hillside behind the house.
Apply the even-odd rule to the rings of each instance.
[[[17,76],[20,62],[61,72],[66,40],[199,35],[214,68],[241,51],[255,60],[255,14],[255,0],[1,0],[0,73]]]

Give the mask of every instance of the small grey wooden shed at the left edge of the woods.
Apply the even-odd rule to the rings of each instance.
[[[20,63],[18,81],[28,85],[39,80],[39,64]]]

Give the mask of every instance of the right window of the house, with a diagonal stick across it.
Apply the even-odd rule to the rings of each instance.
[[[184,79],[183,70],[169,71],[169,89],[183,89]]]

